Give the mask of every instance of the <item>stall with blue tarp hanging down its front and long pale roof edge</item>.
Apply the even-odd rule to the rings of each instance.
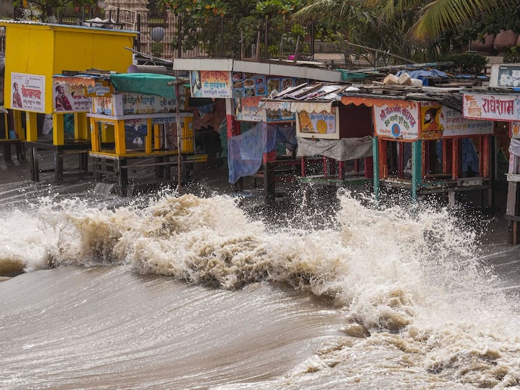
[[[271,197],[275,181],[294,178],[276,171],[299,165],[300,160],[277,154],[277,145],[292,147],[296,143],[294,112],[259,110],[262,100],[310,80],[340,81],[342,76],[320,68],[232,59],[178,59],[174,69],[189,70],[191,98],[226,101],[230,183],[245,176],[263,178]],[[246,128],[249,130],[242,134],[241,129]],[[238,183],[242,189],[242,182]]]

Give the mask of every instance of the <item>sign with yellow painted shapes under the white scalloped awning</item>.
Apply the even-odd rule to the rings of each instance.
[[[298,112],[298,136],[304,138],[340,138],[337,132],[336,111]]]

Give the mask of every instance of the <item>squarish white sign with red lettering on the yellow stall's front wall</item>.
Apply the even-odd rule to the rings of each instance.
[[[11,73],[11,108],[45,112],[45,76]]]

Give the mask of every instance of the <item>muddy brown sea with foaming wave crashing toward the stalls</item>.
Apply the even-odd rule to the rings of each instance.
[[[0,195],[1,389],[520,388],[520,250],[464,210]]]

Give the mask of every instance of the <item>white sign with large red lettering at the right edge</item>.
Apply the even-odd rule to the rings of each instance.
[[[520,121],[520,101],[516,94],[464,93],[464,118],[492,121]]]

